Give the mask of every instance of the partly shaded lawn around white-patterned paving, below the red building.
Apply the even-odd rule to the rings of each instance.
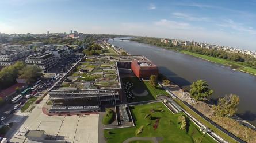
[[[164,89],[161,87],[157,87],[154,89],[149,81],[140,81],[137,77],[129,77],[129,78],[122,78],[123,84],[127,82],[132,82],[134,87],[139,87],[142,89],[145,89],[148,91],[148,96],[141,96],[141,97],[135,97],[132,99],[127,98],[128,102],[139,102],[139,101],[147,101],[147,100],[154,100],[156,98],[156,95],[164,94],[169,95]]]

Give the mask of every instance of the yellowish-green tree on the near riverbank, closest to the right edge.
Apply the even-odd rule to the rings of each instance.
[[[219,98],[218,104],[213,106],[214,113],[220,117],[231,117],[238,110],[239,102],[240,98],[235,94]]]

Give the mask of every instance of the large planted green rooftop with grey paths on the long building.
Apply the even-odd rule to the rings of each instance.
[[[87,55],[64,74],[50,90],[121,88],[117,62],[147,60],[140,55]]]

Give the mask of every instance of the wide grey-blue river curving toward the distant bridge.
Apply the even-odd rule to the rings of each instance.
[[[198,79],[207,81],[214,90],[210,100],[214,101],[225,94],[237,94],[240,97],[238,116],[256,125],[256,76],[144,43],[116,39],[108,42],[122,47],[132,55],[146,56],[158,65],[161,73],[179,86],[189,87]]]

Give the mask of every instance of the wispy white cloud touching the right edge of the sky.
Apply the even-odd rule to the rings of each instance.
[[[232,19],[224,19],[224,23],[217,24],[217,26],[231,28],[236,31],[246,32],[249,34],[256,34],[256,30],[253,27],[246,27],[242,23],[236,23]]]

